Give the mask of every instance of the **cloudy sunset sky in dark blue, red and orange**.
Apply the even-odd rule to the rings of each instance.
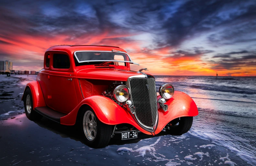
[[[153,75],[256,76],[256,1],[0,2],[0,60],[43,68],[54,45],[113,45]]]

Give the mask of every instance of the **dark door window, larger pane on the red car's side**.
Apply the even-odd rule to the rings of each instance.
[[[55,69],[69,69],[70,61],[68,55],[53,54],[53,68]]]

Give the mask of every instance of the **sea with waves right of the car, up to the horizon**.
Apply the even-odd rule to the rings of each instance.
[[[171,83],[203,112],[256,118],[256,77],[155,76],[157,91]]]

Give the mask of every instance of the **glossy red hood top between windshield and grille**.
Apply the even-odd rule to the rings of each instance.
[[[128,71],[121,69],[82,69],[77,72],[77,78],[87,79],[104,79],[104,80],[116,80],[116,81],[127,81],[127,78],[131,76],[141,75],[136,71]]]

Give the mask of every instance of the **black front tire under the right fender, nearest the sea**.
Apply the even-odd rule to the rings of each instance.
[[[189,131],[193,123],[193,116],[185,116],[173,119],[166,131],[171,135],[182,135]]]

